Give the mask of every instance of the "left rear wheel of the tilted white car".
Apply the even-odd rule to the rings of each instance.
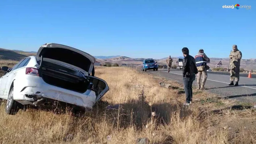
[[[5,113],[15,115],[18,112],[18,102],[13,100],[13,88],[10,90],[7,103],[5,106]]]

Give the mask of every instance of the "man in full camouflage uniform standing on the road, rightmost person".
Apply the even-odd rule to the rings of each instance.
[[[233,51],[230,55],[230,81],[229,86],[234,86],[234,80],[236,81],[235,86],[238,86],[239,73],[240,73],[240,61],[242,59],[242,53],[237,49],[237,45],[233,45]]]

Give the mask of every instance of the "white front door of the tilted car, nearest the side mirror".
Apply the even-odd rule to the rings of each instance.
[[[5,87],[6,87],[6,84],[7,84],[7,80],[9,78],[10,75],[13,74],[13,71],[20,65],[20,63],[22,62],[23,60],[21,60],[20,62],[18,62],[16,65],[14,65],[12,67],[12,69],[10,69],[7,74],[5,74],[4,76],[1,77],[1,86],[0,86],[0,98],[2,99],[7,99],[7,94],[6,94],[6,90],[5,90]]]

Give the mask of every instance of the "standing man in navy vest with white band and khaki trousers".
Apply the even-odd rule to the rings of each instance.
[[[197,90],[204,90],[205,81],[207,79],[207,70],[210,68],[206,63],[210,62],[210,59],[206,56],[204,53],[204,49],[199,49],[198,54],[195,56],[196,58],[196,67],[198,70],[197,74]],[[201,81],[201,75],[203,75],[202,84],[200,84]]]

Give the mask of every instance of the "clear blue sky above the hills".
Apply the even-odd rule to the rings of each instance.
[[[223,9],[250,5],[251,10]],[[256,58],[255,0],[8,0],[1,1],[0,48],[37,51],[60,43],[94,56],[228,57],[233,44]]]

